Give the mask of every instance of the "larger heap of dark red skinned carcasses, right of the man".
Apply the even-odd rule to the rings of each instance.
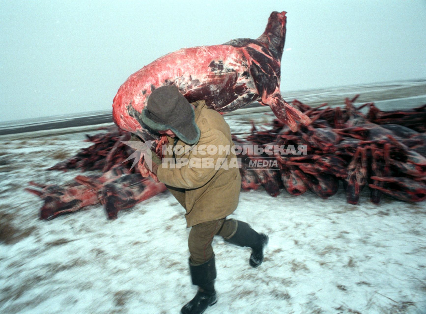
[[[373,203],[379,203],[382,194],[406,202],[426,198],[426,105],[407,111],[380,111],[373,103],[358,108],[354,101],[345,100],[344,108],[311,108],[297,100],[293,106],[311,118],[310,126],[301,126],[293,132],[274,120],[272,128],[258,130],[241,144],[259,147],[287,146],[288,154],[274,154],[280,162],[264,170],[250,169],[245,160],[242,167],[244,190],[265,187],[271,196],[279,194],[282,186],[292,195],[308,189],[319,197],[336,194],[342,181],[348,203],[357,204],[365,186],[370,189]],[[360,109],[369,106],[367,115]],[[271,151],[271,149],[269,150]],[[253,150],[255,152],[255,150]],[[270,158],[269,154],[242,154],[250,159]],[[253,163],[251,163],[253,165]],[[254,163],[255,164],[255,163]],[[279,173],[279,174],[277,174]]]

